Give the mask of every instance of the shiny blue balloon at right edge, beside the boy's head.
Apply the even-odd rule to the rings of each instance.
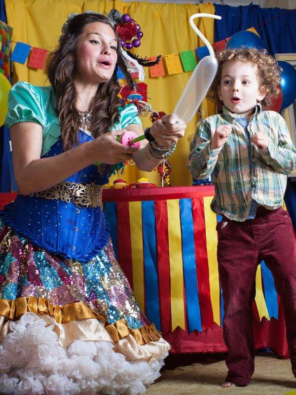
[[[283,60],[279,60],[278,64],[283,69],[280,81],[283,91],[283,110],[296,100],[296,69]]]

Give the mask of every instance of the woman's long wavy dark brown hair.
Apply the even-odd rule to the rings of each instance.
[[[96,95],[93,98],[93,116],[91,120],[92,134],[96,138],[110,130],[111,125],[119,119],[119,84],[116,81],[118,66],[125,75],[127,81],[131,77],[123,63],[120,54],[119,38],[109,19],[102,14],[82,13],[74,16],[67,24],[63,32],[58,48],[53,51],[48,59],[47,75],[55,92],[55,109],[61,125],[61,136],[64,150],[70,150],[79,144],[78,130],[80,116],[75,103],[77,92],[74,85],[76,73],[76,47],[79,35],[85,25],[93,22],[101,22],[111,26],[117,40],[117,65],[108,82],[99,84]]]

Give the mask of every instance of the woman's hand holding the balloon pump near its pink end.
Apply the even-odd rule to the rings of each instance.
[[[100,162],[119,163],[131,159],[132,155],[139,151],[138,148],[124,146],[116,141],[116,137],[125,132],[127,132],[125,129],[113,130],[95,139],[95,150]]]

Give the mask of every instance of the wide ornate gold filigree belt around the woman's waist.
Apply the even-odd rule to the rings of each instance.
[[[70,203],[72,201],[79,208],[102,206],[102,185],[94,182],[86,184],[62,181],[45,191],[36,192],[31,196],[44,197],[45,199],[61,199]]]

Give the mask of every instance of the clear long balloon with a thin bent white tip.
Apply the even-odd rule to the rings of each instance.
[[[190,26],[201,40],[204,41],[210,55],[205,56],[198,62],[174,110],[174,114],[183,119],[185,123],[188,123],[196,113],[202,100],[206,96],[218,69],[218,62],[212,45],[197,29],[193,22],[195,18],[199,17],[221,19],[221,16],[219,15],[203,13],[193,14],[189,18]]]

